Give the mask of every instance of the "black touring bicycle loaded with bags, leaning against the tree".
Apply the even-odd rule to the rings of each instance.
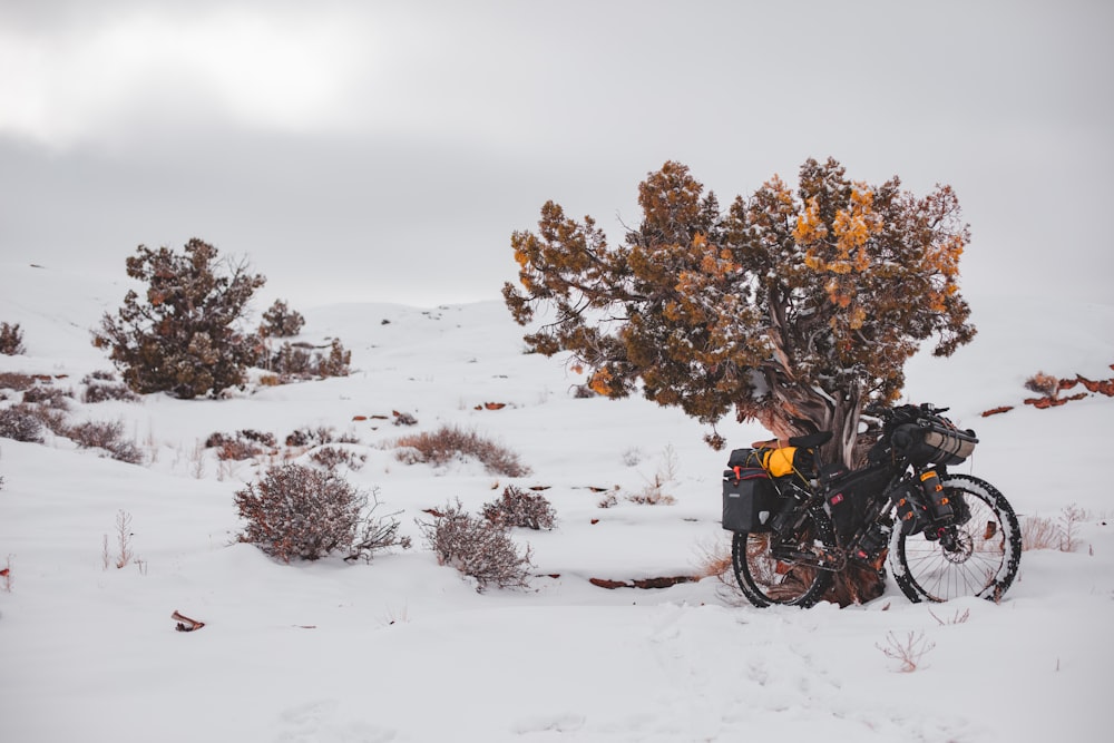
[[[999,600],[1022,555],[1017,517],[979,478],[952,475],[978,439],[930,404],[879,413],[882,436],[866,466],[819,461],[831,432],[788,447],[735,449],[723,475],[723,528],[732,566],[759,607],[812,606],[852,563],[887,557],[912,602]]]

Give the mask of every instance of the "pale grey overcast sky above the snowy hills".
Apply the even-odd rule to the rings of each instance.
[[[247,257],[295,306],[495,299],[665,160],[955,187],[968,294],[1114,302],[1114,3],[0,0],[2,261]],[[0,290],[2,291],[2,290]]]

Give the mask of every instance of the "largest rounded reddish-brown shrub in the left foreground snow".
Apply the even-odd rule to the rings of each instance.
[[[370,559],[373,550],[403,544],[394,539],[397,525],[365,517],[368,496],[332,472],[301,465],[272,467],[235,499],[247,521],[240,540],[284,563],[332,553]]]

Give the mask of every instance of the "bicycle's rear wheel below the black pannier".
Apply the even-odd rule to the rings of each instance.
[[[819,556],[836,550],[831,518],[821,508],[810,508],[804,524],[792,540],[794,551]],[[831,573],[798,559],[779,559],[771,548],[784,539],[764,531],[736,531],[731,541],[731,563],[735,579],[746,599],[760,608],[775,604],[807,608],[823,597],[831,585]]]

